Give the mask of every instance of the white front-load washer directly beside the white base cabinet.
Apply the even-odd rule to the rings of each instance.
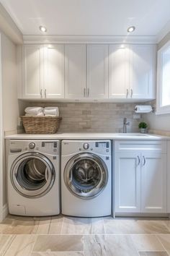
[[[63,140],[61,209],[68,216],[111,214],[111,142]]]

